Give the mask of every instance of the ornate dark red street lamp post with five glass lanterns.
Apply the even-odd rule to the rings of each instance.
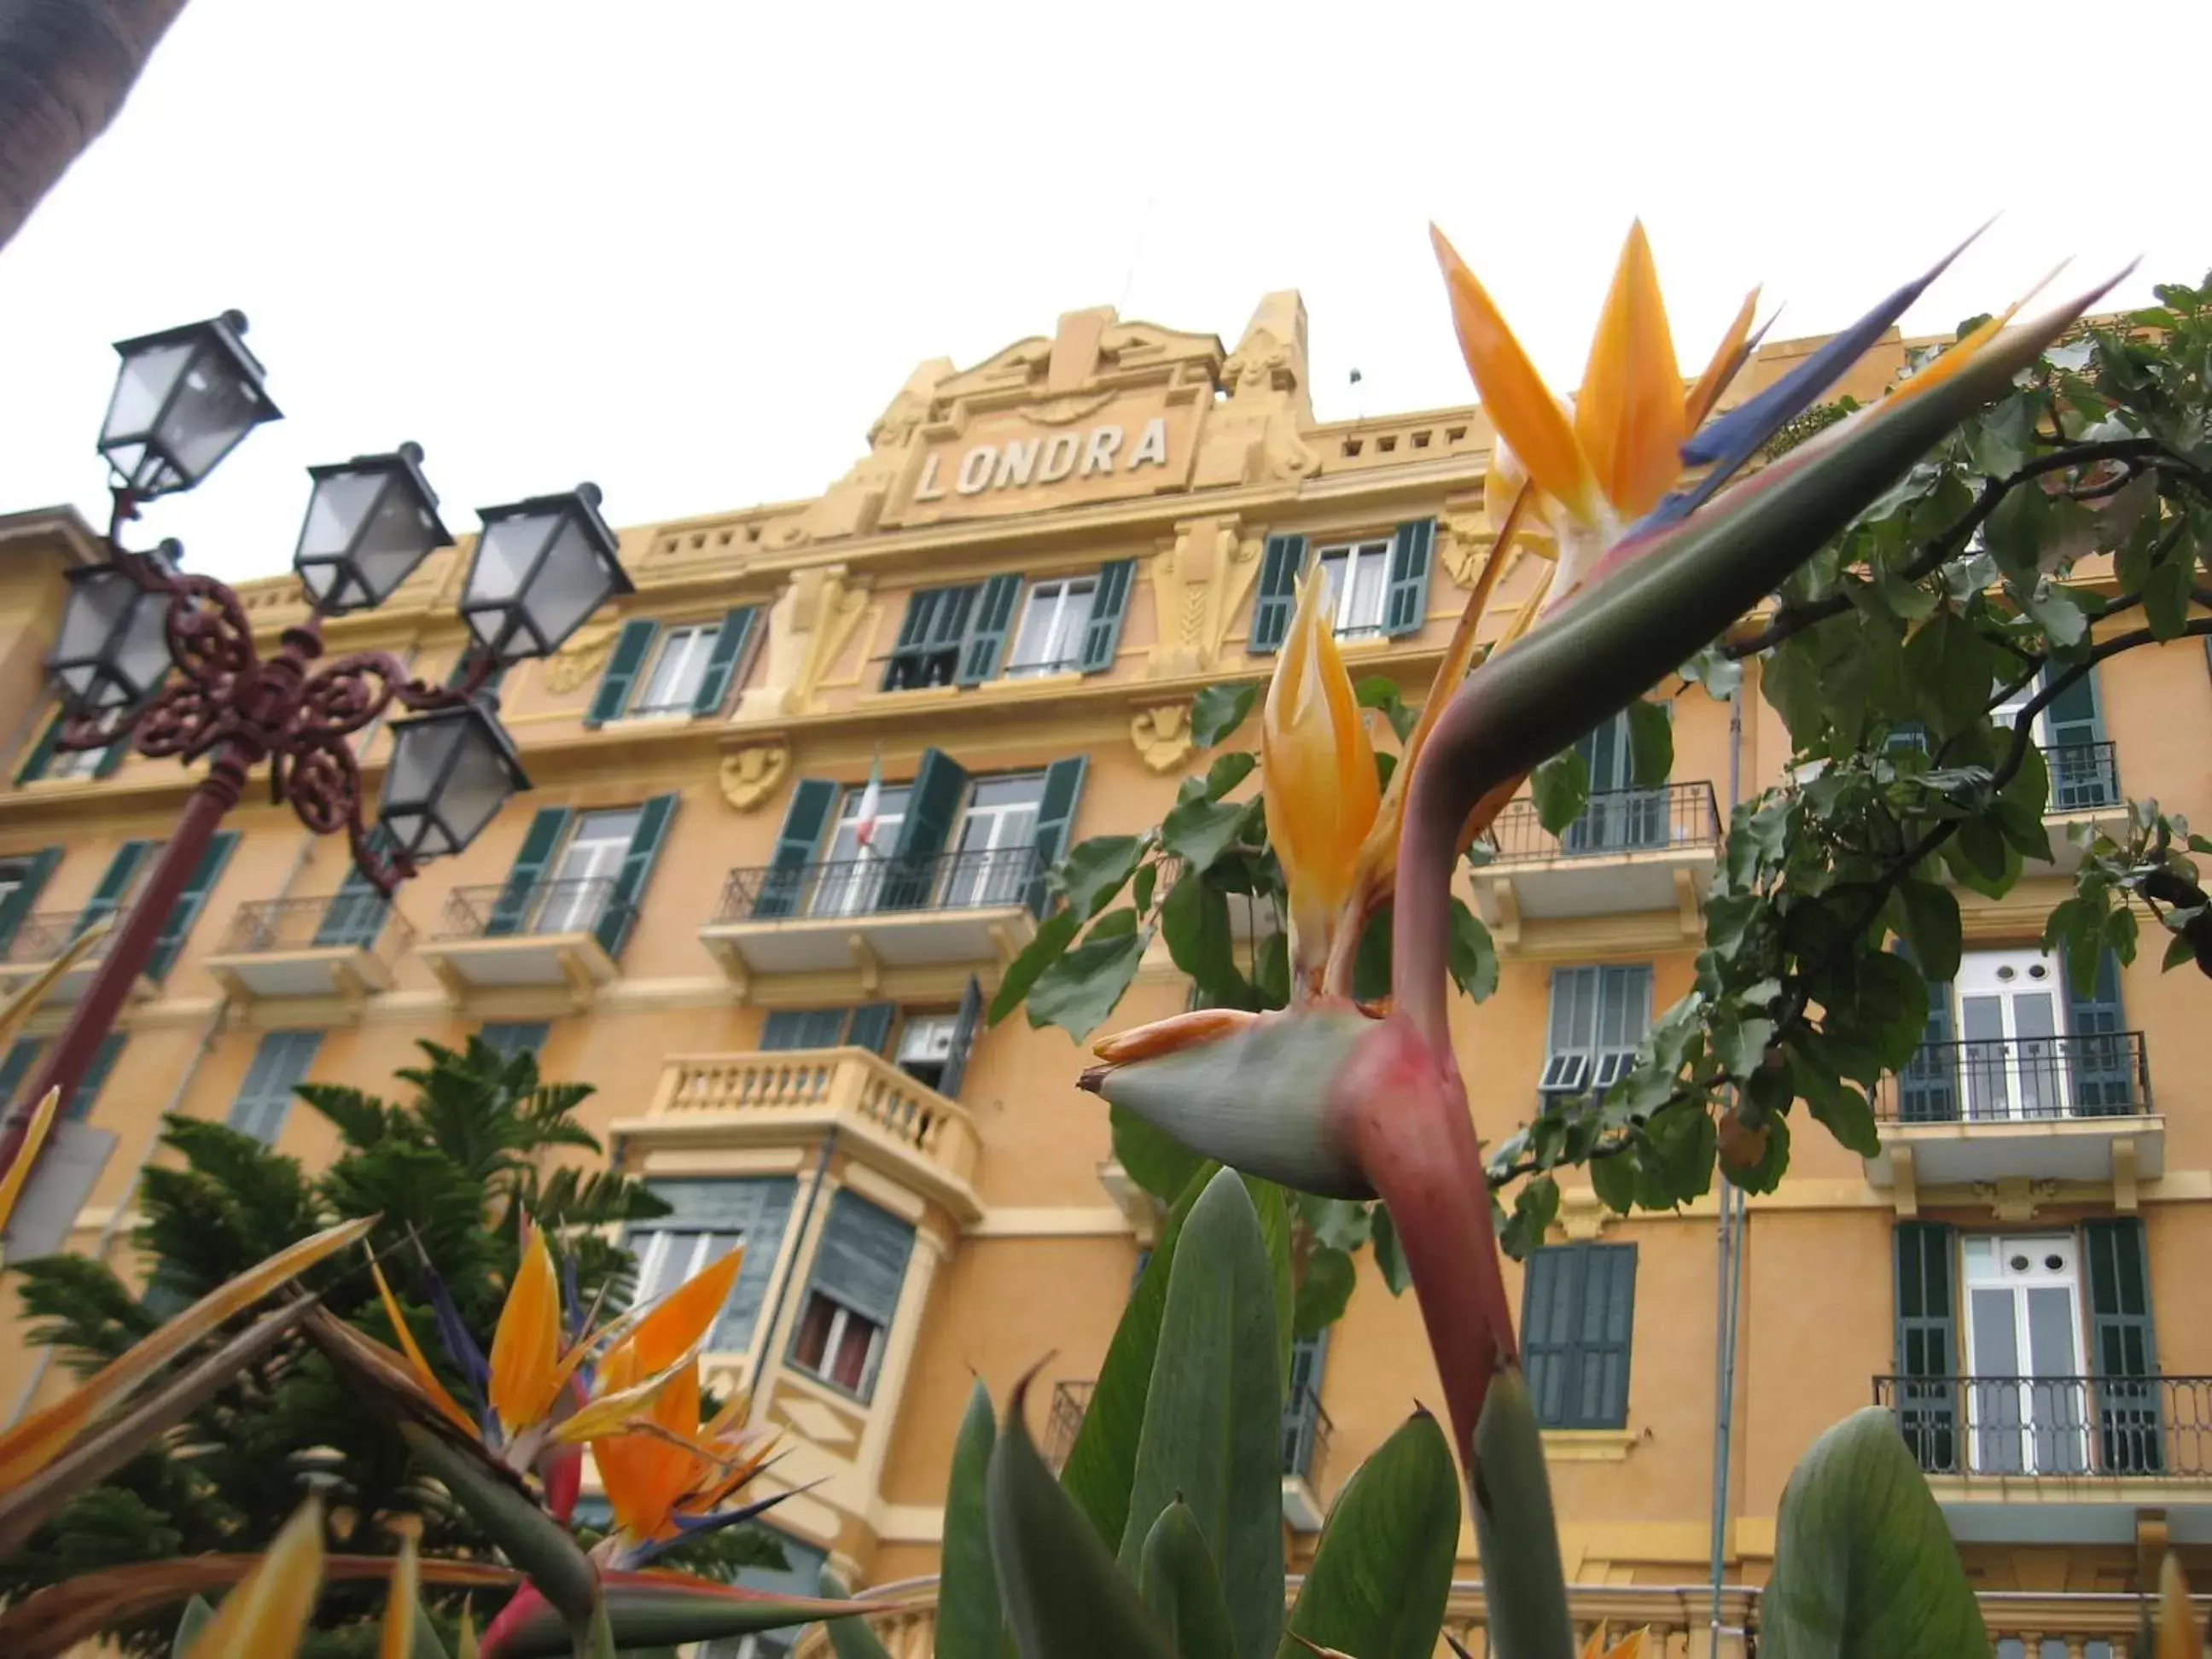
[[[420,860],[467,847],[529,787],[482,690],[493,670],[551,655],[599,604],[630,591],[593,484],[489,507],[462,586],[473,646],[458,686],[414,679],[383,650],[316,666],[325,615],[383,604],[434,549],[451,546],[422,451],[400,445],[310,469],[314,491],[292,560],[310,615],[263,657],[239,595],[179,571],[177,542],[131,553],[117,540],[139,502],[192,489],[254,425],[276,418],[243,332],[246,319],[223,312],[115,347],[124,363],[100,436],[115,476],[108,562],[69,573],[46,659],[66,714],[58,748],[131,743],[155,759],[208,761],[208,774],[186,796],[29,1093],[9,1108],[0,1170],[22,1150],[29,1102],[49,1088],[66,1099],[84,1077],[254,765],[268,761],[272,803],[288,801],[314,834],[343,832],[361,874],[389,896]],[[416,719],[392,728],[372,832],[349,739],[394,703]]]

